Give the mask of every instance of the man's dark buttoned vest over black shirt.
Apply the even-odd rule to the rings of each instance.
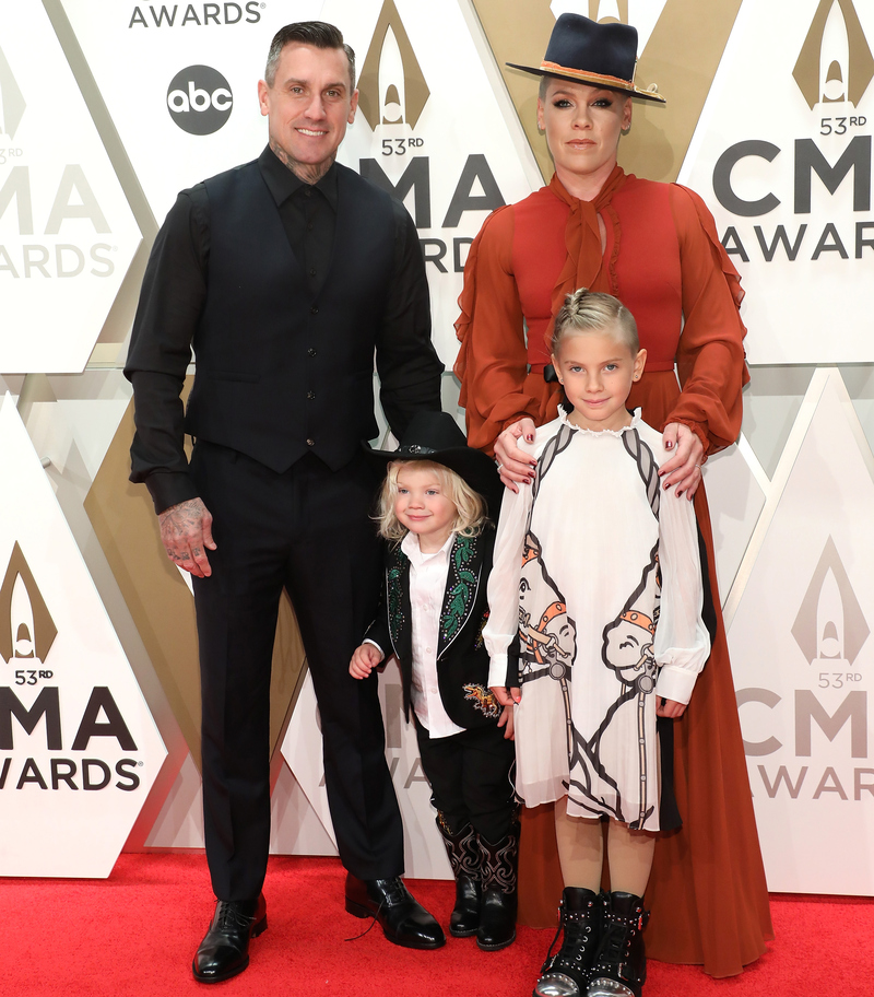
[[[258,163],[205,181],[208,292],[186,432],[280,472],[310,451],[335,470],[377,433],[374,350],[394,212],[385,191],[336,169],[333,254],[315,296]]]

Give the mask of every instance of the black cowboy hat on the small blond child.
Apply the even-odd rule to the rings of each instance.
[[[381,465],[383,472],[392,460],[430,460],[449,468],[483,496],[489,518],[497,519],[504,485],[495,461],[468,446],[464,434],[448,412],[416,412],[397,450],[366,447],[365,451]]]

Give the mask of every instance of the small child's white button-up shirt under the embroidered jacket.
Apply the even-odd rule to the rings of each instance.
[[[422,726],[433,738],[449,737],[464,728],[449,719],[437,684],[437,638],[440,610],[449,577],[449,554],[456,535],[433,554],[423,554],[418,537],[408,533],[401,550],[410,559],[410,609],[413,627],[412,701]]]

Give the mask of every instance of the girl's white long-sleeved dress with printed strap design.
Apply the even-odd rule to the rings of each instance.
[[[710,652],[693,505],[660,489],[671,455],[639,411],[616,432],[562,413],[533,454],[533,484],[504,495],[484,630],[489,684],[520,640],[517,793],[658,831],[657,697],[688,703]]]

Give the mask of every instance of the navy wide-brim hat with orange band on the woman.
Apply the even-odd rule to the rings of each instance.
[[[637,64],[637,28],[630,24],[599,24],[582,14],[562,14],[546,46],[546,55],[536,68],[508,62],[513,69],[539,77],[558,77],[618,90],[643,101],[664,104],[653,83],[648,90],[635,85]]]

